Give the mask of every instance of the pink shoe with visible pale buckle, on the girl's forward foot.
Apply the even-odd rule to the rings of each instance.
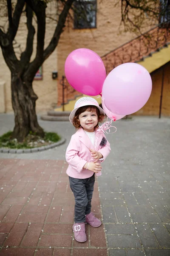
[[[73,225],[73,231],[74,231],[74,238],[78,242],[85,242],[87,241],[87,236],[85,233],[85,223],[74,223]]]

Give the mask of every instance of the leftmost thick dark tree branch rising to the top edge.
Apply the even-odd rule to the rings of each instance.
[[[11,2],[11,1],[8,0],[8,2]],[[8,32],[7,32],[7,35],[10,38],[11,42],[14,40],[15,35],[17,34],[20,17],[21,17],[21,13],[23,11],[24,4],[25,4],[25,0],[17,0],[17,4],[15,6],[14,15],[13,15],[13,19],[12,19],[13,23],[12,23],[12,26],[11,26],[11,22],[9,23],[9,28],[8,28]]]

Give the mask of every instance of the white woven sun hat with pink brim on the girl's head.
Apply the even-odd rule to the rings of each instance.
[[[104,110],[99,107],[99,104],[96,101],[96,99],[94,99],[92,97],[82,97],[82,98],[77,100],[77,102],[74,105],[74,110],[71,111],[71,114],[69,116],[70,122],[73,123],[73,118],[74,118],[74,115],[75,115],[78,108],[88,106],[88,105],[96,106],[99,109],[100,113],[105,115]]]

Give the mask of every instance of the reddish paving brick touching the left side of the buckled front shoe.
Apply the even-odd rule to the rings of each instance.
[[[72,226],[72,224],[45,224],[43,234],[72,234]]]

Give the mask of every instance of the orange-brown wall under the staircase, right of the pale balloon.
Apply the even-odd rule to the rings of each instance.
[[[160,67],[151,73],[151,78],[153,82],[152,93],[147,103],[139,111],[134,113],[136,116],[147,116],[155,115],[159,116],[160,109],[160,99],[161,99],[161,86],[162,86],[162,76],[164,68],[164,83],[163,83],[163,93],[162,93],[162,105],[161,105],[161,115],[170,116],[170,62]]]

